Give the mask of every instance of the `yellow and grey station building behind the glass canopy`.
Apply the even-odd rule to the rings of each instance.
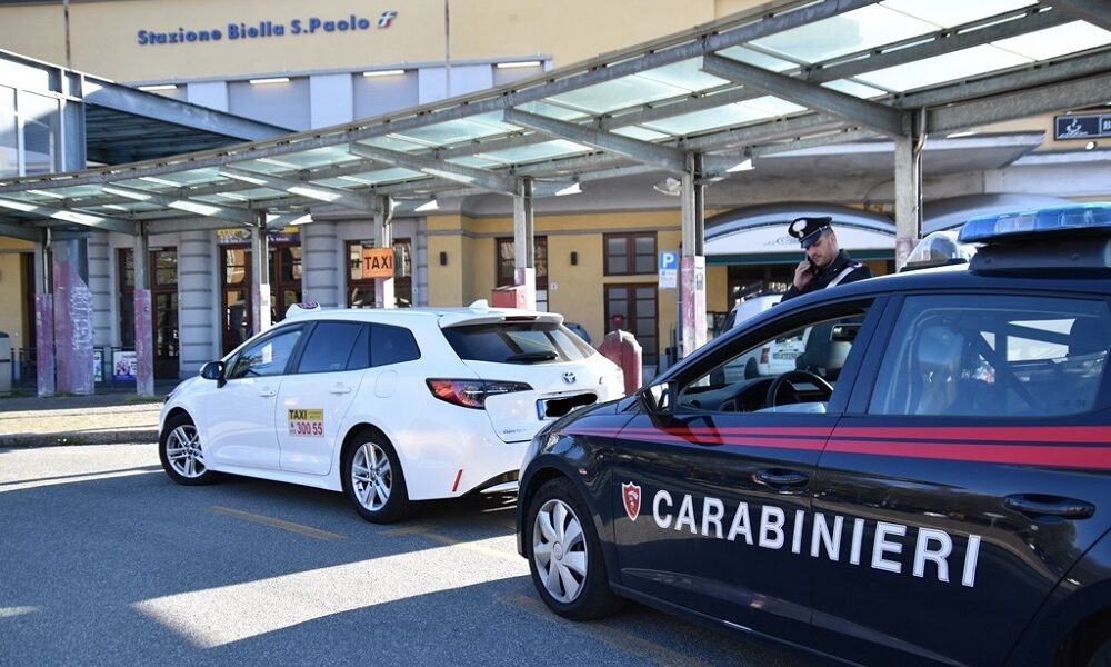
[[[697,31],[738,13],[757,19],[797,4],[805,3],[695,0],[679,10],[673,2],[657,0],[568,0],[558,7],[536,0],[418,0],[402,6],[350,0],[311,6],[258,0],[0,1],[0,199],[10,179],[389,118],[476,91],[511,90],[630,44],[643,43],[650,50],[663,36]],[[948,9],[918,0],[860,4],[858,11],[869,12],[868,20],[888,31],[883,44],[914,44],[923,36],[971,20],[951,3],[944,3]],[[1070,2],[981,4],[990,7],[972,13],[983,26],[992,24],[984,17],[1025,16],[1055,32],[982,44],[977,51],[982,61],[969,62],[961,54],[944,62],[953,68],[949,79],[971,81],[989,69],[1018,72],[1063,54],[1105,54],[1111,42],[1105,14],[1070,13]],[[848,21],[843,32],[801,34],[793,41],[772,37],[751,48],[760,64],[772,70],[815,62],[843,67],[839,59],[844,54],[879,43],[852,31],[861,24]],[[1063,49],[1062,40],[1068,44]],[[922,86],[937,80],[914,69],[887,68],[862,72],[852,84],[899,97],[919,88],[915,77]],[[684,88],[682,80],[652,83],[673,90],[672,97],[702,92]],[[562,110],[569,116],[587,108],[574,94],[564,97]],[[721,122],[743,128],[750,120],[790,118],[798,110],[773,98],[748,99],[732,104]],[[599,118],[619,111],[607,109]],[[653,133],[694,135],[707,125],[699,115],[710,112],[643,122],[629,136],[650,140]],[[1091,125],[1101,113],[1111,119],[1111,106],[1057,109],[925,137],[920,147],[919,231],[955,227],[971,215],[1000,207],[1111,197],[1111,150],[1102,146],[1111,141],[1111,125],[1105,131],[1099,120]],[[497,128],[500,121],[468,122],[479,126],[476,136],[481,136],[482,123]],[[458,138],[466,142],[468,131],[473,128],[460,129]],[[437,149],[452,139],[417,132],[407,140],[414,135]],[[709,183],[707,310],[724,315],[740,295],[787,287],[801,259],[785,232],[787,222],[800,215],[833,216],[842,247],[867,261],[873,273],[894,270],[894,151],[893,141],[867,133],[859,139],[800,141],[795,148],[780,145],[774,151],[753,151],[743,171]],[[524,143],[481,158],[516,163],[542,160],[544,155]],[[267,160],[276,171],[316,166],[283,162],[281,157],[260,161]],[[567,197],[534,199],[537,307],[582,323],[595,344],[610,317],[623,315],[644,347],[649,372],[674,358],[680,319],[677,290],[661,285],[659,272],[660,252],[678,251],[682,239],[673,187],[678,181],[665,176],[618,175],[581,188],[575,182],[568,188],[574,193]],[[359,185],[357,176],[339,178]],[[170,187],[188,185],[169,176],[164,180]],[[433,200],[399,197],[397,203],[388,243],[401,269],[393,285],[399,303],[467,305],[514,283],[511,198],[469,192]],[[6,210],[0,209],[0,222]],[[74,216],[80,213],[70,213]],[[52,217],[64,220],[64,210]],[[0,312],[0,330],[22,350],[17,360],[26,361],[27,372],[38,336],[37,256],[34,242],[22,230],[0,225],[0,295],[10,305]],[[303,300],[380,305],[373,280],[362,277],[363,250],[383,245],[380,235],[373,217],[357,210],[314,212],[311,223],[270,229],[269,295],[252,291],[254,247],[243,226],[191,229],[182,222],[150,236],[140,270],[149,275],[151,312],[141,325],[151,328],[154,377],[186,377],[238,345],[253,332],[250,313],[259,300],[270,305],[272,320]],[[117,376],[116,358],[126,359],[134,346],[132,238],[110,226],[91,226],[58,231],[51,249],[60,257],[71,253],[71,263],[87,270],[91,330],[64,331],[64,321],[60,325],[71,340],[91,339],[99,351],[96,375],[110,381]],[[67,279],[53,280],[64,286]],[[64,303],[56,303],[56,312],[64,309]]]

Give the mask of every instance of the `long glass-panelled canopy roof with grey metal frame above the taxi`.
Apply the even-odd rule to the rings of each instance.
[[[1109,30],[1111,9],[1080,0],[780,2],[389,117],[0,181],[0,233],[37,220],[132,233],[171,218],[249,225],[369,211],[380,196],[512,195],[520,178],[546,196],[571,179],[675,172],[688,151],[702,176],[729,177],[753,155],[909,133],[923,109],[924,130],[944,132],[1103,104]]]

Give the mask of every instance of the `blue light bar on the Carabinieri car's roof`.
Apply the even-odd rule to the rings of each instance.
[[[971,218],[961,228],[962,243],[990,243],[1009,237],[1103,229],[1111,233],[1111,203],[1073,203],[991,213]]]

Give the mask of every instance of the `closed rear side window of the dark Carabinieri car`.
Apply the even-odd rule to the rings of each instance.
[[[1109,340],[1111,316],[1102,301],[909,297],[869,411],[1042,417],[1091,410]]]

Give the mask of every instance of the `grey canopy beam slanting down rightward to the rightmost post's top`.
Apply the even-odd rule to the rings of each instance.
[[[702,58],[702,71],[743,86],[759,88],[768,94],[825,111],[853,123],[874,128],[884,135],[901,137],[907,131],[903,113],[891,107],[777,74],[751,64],[711,53]]]

